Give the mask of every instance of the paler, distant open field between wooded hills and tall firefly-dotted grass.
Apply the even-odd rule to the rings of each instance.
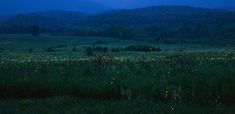
[[[162,48],[162,52],[176,52],[184,50],[186,52],[208,52],[208,51],[233,51],[235,41],[207,41],[207,40],[189,40],[190,43],[157,43],[153,41],[129,41],[118,40],[115,38],[104,37],[75,37],[75,36],[50,36],[42,34],[40,37],[32,37],[29,34],[1,34],[0,35],[0,52],[27,54],[27,50],[32,48],[34,54],[42,54],[45,48],[57,48],[57,53],[66,55],[71,54],[72,48],[77,48],[76,55],[84,55],[83,47],[92,46],[97,41],[104,43],[96,44],[107,47],[125,47],[128,45],[151,45]],[[48,53],[46,53],[48,55]],[[55,53],[54,53],[55,54]],[[124,53],[126,56],[127,53]],[[159,54],[159,52],[157,53]],[[139,53],[137,55],[140,55]]]

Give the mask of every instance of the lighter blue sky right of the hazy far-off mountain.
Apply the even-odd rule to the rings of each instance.
[[[137,8],[153,5],[185,5],[192,7],[233,7],[234,0],[96,0],[116,8]]]

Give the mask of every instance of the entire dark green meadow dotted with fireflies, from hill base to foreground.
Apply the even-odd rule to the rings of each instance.
[[[108,51],[90,55],[94,45]],[[130,45],[161,51],[124,50]],[[234,49],[231,42],[0,35],[0,113],[233,114]]]

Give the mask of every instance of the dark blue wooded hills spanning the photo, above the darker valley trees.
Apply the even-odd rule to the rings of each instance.
[[[235,12],[231,11],[188,6],[154,6],[111,10],[95,15],[68,11],[29,13],[6,20],[0,25],[0,29],[3,33],[27,32],[31,25],[39,25],[43,32],[68,32],[75,28],[102,30],[110,25],[141,28],[146,26],[182,27],[232,24],[235,24]]]

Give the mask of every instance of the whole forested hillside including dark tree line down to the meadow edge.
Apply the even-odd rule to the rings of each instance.
[[[46,11],[14,16],[0,25],[1,33],[40,32],[121,39],[231,39],[235,38],[235,12],[187,6],[155,6],[112,10],[96,15]]]

